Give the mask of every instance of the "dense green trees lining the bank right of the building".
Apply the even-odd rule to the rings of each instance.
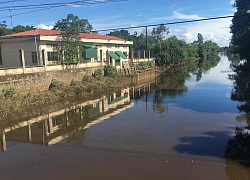
[[[160,25],[153,28],[150,32],[144,32],[140,35],[135,32],[130,35],[127,30],[114,31],[109,35],[114,35],[125,40],[132,40],[134,51],[151,50],[155,54],[155,63],[157,66],[169,66],[171,64],[179,64],[184,61],[201,58],[208,59],[218,56],[220,47],[212,41],[204,41],[202,34],[198,33],[197,41],[186,43],[179,40],[176,36],[166,38],[169,33],[168,28]]]

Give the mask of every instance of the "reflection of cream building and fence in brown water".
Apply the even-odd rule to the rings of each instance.
[[[87,128],[132,107],[129,88],[121,94],[90,100],[65,109],[38,116],[1,130],[2,150],[7,142],[52,145],[67,138],[68,143],[81,143]]]

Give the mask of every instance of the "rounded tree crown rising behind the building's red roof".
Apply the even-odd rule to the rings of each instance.
[[[87,19],[79,19],[78,16],[74,16],[73,14],[68,14],[66,19],[57,21],[53,29],[64,31],[68,27],[74,27],[79,33],[91,33],[93,30],[92,25],[89,24]]]

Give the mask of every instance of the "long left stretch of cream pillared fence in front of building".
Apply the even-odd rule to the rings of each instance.
[[[47,59],[45,51],[41,51],[41,54],[23,50],[0,52],[0,76],[103,66],[103,62],[93,59],[68,65],[61,64],[60,61],[46,61],[45,59]]]

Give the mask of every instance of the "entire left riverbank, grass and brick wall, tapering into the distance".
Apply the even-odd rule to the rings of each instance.
[[[133,87],[138,84],[145,84],[155,80],[155,76],[167,71],[174,66],[185,65],[195,60],[182,64],[172,65],[164,68],[153,67],[140,70],[133,76],[126,76],[122,73],[115,73],[109,76],[94,77],[91,74],[83,74],[69,81],[65,78],[52,79],[50,84],[44,87],[47,90],[26,91],[7,87],[0,93],[0,118],[15,119],[13,116],[28,118],[33,113],[44,113],[45,107],[53,108],[53,104],[61,102],[67,103],[69,99],[96,98],[101,94],[108,94],[122,88]],[[62,79],[64,81],[62,81]],[[29,114],[23,114],[23,112]]]

